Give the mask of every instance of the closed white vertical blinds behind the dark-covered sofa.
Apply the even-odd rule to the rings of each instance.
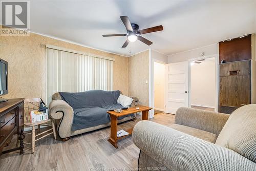
[[[47,48],[47,103],[56,92],[113,89],[113,60]]]

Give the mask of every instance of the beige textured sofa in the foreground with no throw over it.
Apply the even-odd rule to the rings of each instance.
[[[231,115],[180,108],[171,127],[135,125],[142,170],[256,170],[256,104]]]

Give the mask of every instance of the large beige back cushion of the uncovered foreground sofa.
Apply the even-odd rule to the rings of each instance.
[[[234,111],[216,144],[256,162],[256,104],[248,104]]]

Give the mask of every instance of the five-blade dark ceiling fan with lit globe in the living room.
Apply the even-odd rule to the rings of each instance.
[[[152,33],[152,32],[156,32],[156,31],[162,31],[163,30],[163,26],[155,26],[155,27],[151,27],[151,28],[147,28],[147,29],[143,29],[143,30],[139,30],[139,25],[137,24],[131,24],[129,17],[127,16],[120,16],[126,31],[128,34],[103,34],[103,37],[113,37],[113,36],[127,36],[127,40],[124,42],[122,48],[126,48],[127,45],[129,44],[129,42],[134,42],[137,39],[142,41],[144,44],[150,46],[153,44],[152,41],[140,36],[141,34],[146,34],[146,33]]]

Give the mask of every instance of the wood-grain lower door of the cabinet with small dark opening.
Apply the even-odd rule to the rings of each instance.
[[[240,107],[250,103],[250,61],[220,65],[220,106]]]

